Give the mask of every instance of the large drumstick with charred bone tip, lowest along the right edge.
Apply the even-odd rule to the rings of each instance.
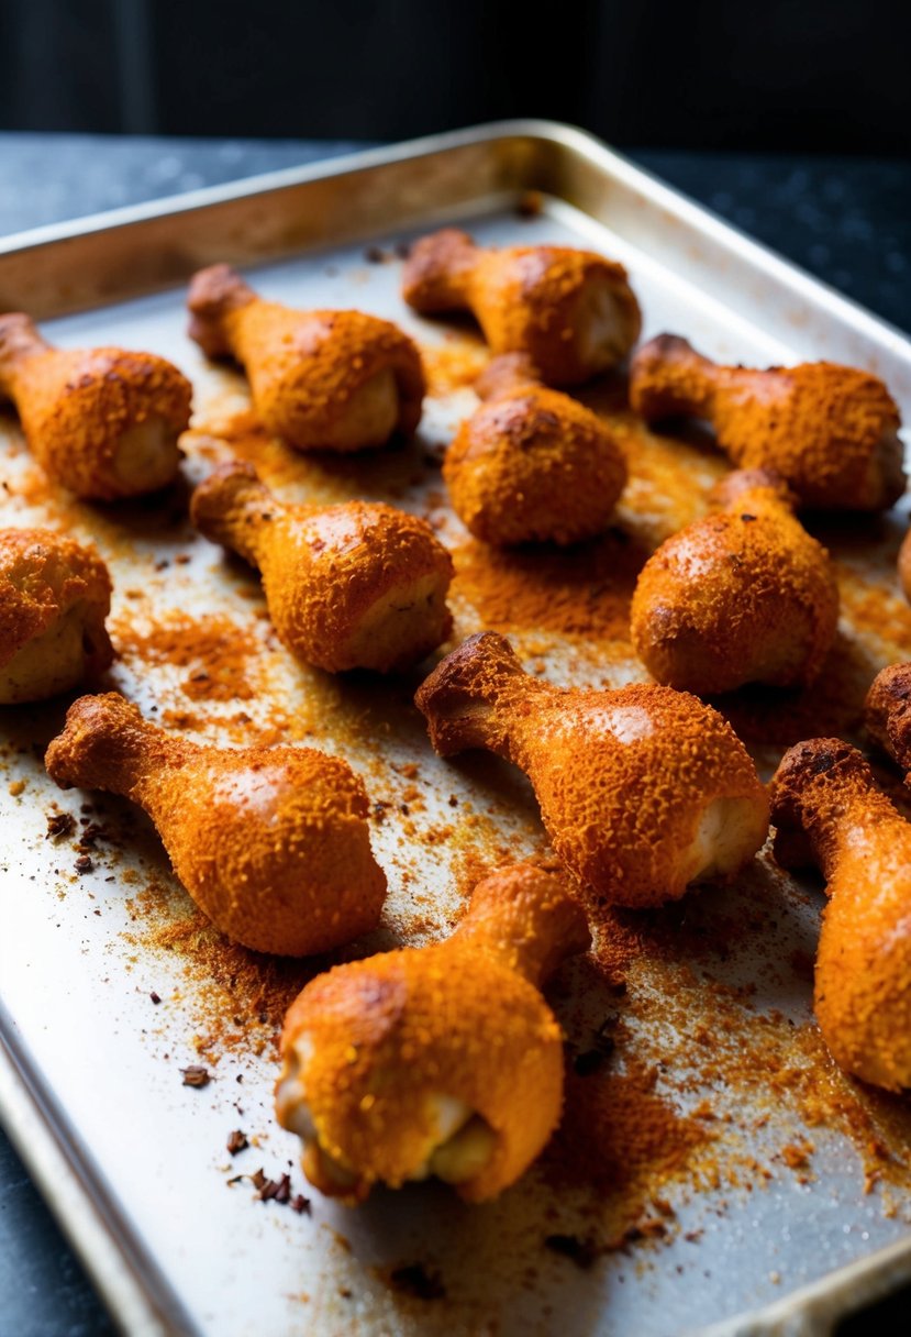
[[[839,738],[784,754],[772,822],[776,860],[817,864],[827,882],[815,1008],[832,1058],[874,1086],[911,1086],[911,825]]]

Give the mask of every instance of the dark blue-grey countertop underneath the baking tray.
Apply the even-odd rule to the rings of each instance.
[[[0,134],[0,238],[41,223],[299,166],[351,148],[314,140]],[[911,330],[911,168],[900,162],[630,151],[743,231]],[[908,1332],[911,1288],[840,1337]],[[0,1131],[0,1337],[116,1329]]]

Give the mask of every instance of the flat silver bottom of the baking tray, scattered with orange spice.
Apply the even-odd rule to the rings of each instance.
[[[556,198],[530,217],[497,203],[494,210],[490,198],[476,203],[473,217],[466,203],[454,213],[484,242],[566,241],[624,261],[645,310],[644,337],[683,330],[713,356],[759,364],[836,356],[831,345],[839,340],[859,340],[859,362],[907,360],[892,332],[864,317],[879,340],[864,344],[863,329],[842,329],[831,310],[830,342],[820,348],[827,299],[809,305],[809,281],[800,281],[807,290],[797,283],[792,313],[772,303],[757,325],[751,303],[761,285],[709,289],[699,265],[689,266],[693,250],[707,245],[703,234],[679,247],[668,267],[652,245],[659,225],[641,211],[633,226],[624,206],[612,227]],[[530,571],[520,562],[497,568],[500,580],[485,584],[489,563],[447,512],[438,475],[445,441],[474,404],[465,382],[485,353],[468,329],[421,321],[398,299],[395,245],[407,235],[395,229],[373,239],[382,262],[370,262],[358,245],[250,274],[263,295],[289,305],[387,316],[427,350],[434,393],[417,441],[369,459],[307,461],[263,439],[248,417],[243,380],[211,368],[186,340],[182,290],[83,312],[47,329],[64,346],[114,342],[159,352],[192,377],[188,481],[215,459],[240,453],[289,499],[369,496],[429,515],[457,550],[454,639],[505,618],[526,662],[554,681],[610,686],[644,677],[622,638],[592,640],[573,630],[572,618],[560,620],[557,595],[578,594],[578,562],[557,563],[556,571],[549,559],[540,570],[533,560]],[[850,308],[839,312],[844,321]],[[902,393],[895,376],[890,380]],[[723,461],[699,439],[672,443],[641,432],[614,382],[588,397],[621,433],[632,460],[633,484],[609,540],[616,551],[589,554],[606,563],[606,584],[613,580],[598,596],[621,600],[636,560],[699,513]],[[223,436],[227,447],[219,444]],[[73,503],[44,485],[11,416],[3,418],[0,472],[8,523],[65,527],[94,537],[108,559],[122,654],[112,686],[192,737],[299,739],[342,751],[363,774],[378,805],[373,840],[390,897],[383,927],[361,949],[446,932],[478,870],[544,848],[521,777],[486,757],[447,763],[431,757],[409,705],[417,677],[339,681],[291,663],[270,631],[256,580],[192,535],[179,491],[119,509]],[[822,693],[826,699],[807,707],[807,722],[826,710],[838,717],[880,663],[911,654],[911,620],[898,595],[883,603],[874,592],[883,583],[894,588],[890,563],[902,529],[898,520],[856,519],[848,528],[817,531],[842,560],[847,616],[832,699]],[[633,558],[620,560],[621,550]],[[553,608],[545,599],[533,622],[516,622],[520,606],[504,612],[494,595],[504,580],[528,591],[538,578],[556,582]],[[151,634],[155,622],[172,630],[164,650]],[[206,626],[215,628],[214,640],[203,635]],[[188,650],[194,638],[198,654]],[[207,683],[200,671],[208,671]],[[760,721],[757,733],[769,721],[779,733],[804,722],[800,707],[780,701],[741,702],[736,723],[737,709],[753,726]],[[628,925],[612,924],[600,968],[577,963],[561,972],[553,1000],[570,1056],[586,1052],[605,1017],[616,1028],[616,1050],[605,1071],[573,1074],[562,1143],[502,1199],[469,1209],[433,1185],[381,1191],[355,1213],[321,1199],[297,1169],[297,1139],[271,1116],[275,1024],[314,967],[275,967],[226,949],[194,919],[144,818],[116,800],[48,785],[36,743],[59,729],[63,710],[59,702],[21,709],[1,722],[0,908],[3,923],[15,925],[0,939],[3,1031],[15,1039],[33,1090],[52,1092],[51,1123],[79,1147],[108,1235],[130,1241],[134,1289],[151,1292],[159,1308],[158,1317],[150,1310],[143,1318],[150,1330],[156,1322],[163,1330],[238,1334],[546,1333],[558,1325],[568,1333],[647,1337],[757,1309],[879,1246],[895,1245],[904,1259],[908,1209],[898,1162],[907,1111],[827,1063],[809,1021],[807,977],[822,896],[767,862],[732,888],[707,889],[683,909],[647,917],[637,947],[626,941],[634,936]],[[767,763],[777,750],[759,749]],[[83,802],[92,810],[83,812]],[[72,840],[47,838],[55,809],[102,826],[91,872],[75,872]],[[617,944],[629,956],[622,965]],[[616,988],[620,975],[625,993]],[[208,1067],[207,1087],[180,1084],[179,1070],[190,1063]],[[597,1174],[593,1122],[580,1115],[601,1100],[614,1159],[606,1155]],[[643,1139],[630,1132],[629,1151],[639,1148],[639,1159],[632,1155],[621,1183],[622,1143],[612,1140],[610,1110],[622,1127],[628,1106],[645,1111],[645,1122],[655,1118],[679,1163],[668,1163],[660,1146],[643,1152]],[[28,1119],[13,1122],[21,1146]],[[224,1143],[238,1127],[254,1146],[231,1158]],[[871,1143],[882,1143],[888,1158]],[[231,1183],[260,1166],[268,1178],[287,1171],[309,1213],[258,1201],[248,1178]],[[594,1191],[585,1178],[597,1179]],[[43,1185],[53,1202],[52,1175],[45,1173]],[[75,1217],[75,1209],[67,1213],[71,1230]],[[115,1304],[123,1289],[108,1285]],[[134,1314],[131,1330],[138,1322]],[[826,1330],[820,1324],[815,1330]]]

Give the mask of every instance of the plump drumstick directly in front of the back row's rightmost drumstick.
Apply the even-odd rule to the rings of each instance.
[[[661,544],[640,572],[630,631],[659,682],[699,695],[747,682],[812,682],[839,620],[826,548],[793,516],[796,497],[767,469],[715,489],[724,509]]]

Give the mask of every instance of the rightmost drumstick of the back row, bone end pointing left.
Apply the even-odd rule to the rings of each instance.
[[[748,469],[775,469],[808,507],[879,511],[904,492],[902,425],[875,376],[835,362],[719,366],[675,334],[633,358],[630,404],[647,418],[707,418]]]

